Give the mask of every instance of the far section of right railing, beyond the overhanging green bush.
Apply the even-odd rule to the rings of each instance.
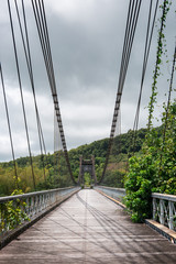
[[[113,188],[107,186],[95,186],[94,188],[105,193],[106,195],[121,202],[123,200],[123,197],[125,196],[125,189],[123,188]]]

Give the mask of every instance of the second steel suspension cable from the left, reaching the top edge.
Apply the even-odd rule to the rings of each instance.
[[[29,136],[29,129],[28,129],[28,121],[26,121],[26,113],[25,113],[23,89],[22,89],[22,82],[21,82],[20,66],[19,66],[18,51],[16,51],[16,44],[15,44],[14,30],[13,30],[13,21],[12,21],[10,0],[8,0],[8,10],[9,10],[9,18],[10,18],[10,25],[11,25],[11,33],[12,33],[12,41],[13,41],[13,50],[14,50],[15,65],[16,65],[16,72],[18,72],[21,102],[22,102],[22,111],[23,111],[23,118],[24,118],[24,127],[25,127],[26,141],[28,141],[28,147],[29,147],[29,154],[30,154],[30,164],[31,164],[31,170],[32,170],[33,186],[34,186],[34,189],[36,189],[36,186],[35,186],[35,175],[34,175],[34,168],[33,168],[32,152],[31,152],[31,144],[30,144],[30,136]]]

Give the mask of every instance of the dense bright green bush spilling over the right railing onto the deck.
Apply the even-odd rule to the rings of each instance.
[[[130,158],[130,173],[127,176],[127,207],[132,211],[132,220],[141,222],[151,217],[151,189],[155,178],[152,155]]]

